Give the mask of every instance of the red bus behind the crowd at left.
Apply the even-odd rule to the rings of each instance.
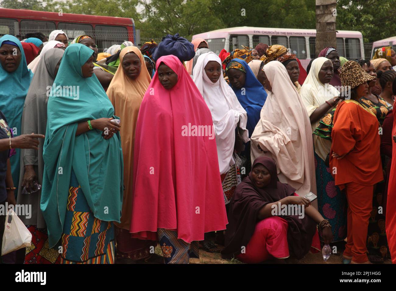
[[[135,44],[136,39],[132,18],[0,8],[0,36],[22,40],[29,32],[42,32],[48,37],[55,29],[66,32],[70,42],[80,34],[91,35],[99,51],[126,40]]]

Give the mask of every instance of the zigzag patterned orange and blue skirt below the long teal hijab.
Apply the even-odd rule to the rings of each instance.
[[[113,264],[114,225],[93,216],[72,171],[63,234],[61,264]]]

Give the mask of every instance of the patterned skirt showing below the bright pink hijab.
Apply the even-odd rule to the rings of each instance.
[[[199,243],[187,243],[177,238],[177,231],[158,228],[158,240],[165,264],[188,264],[190,258],[199,259]]]

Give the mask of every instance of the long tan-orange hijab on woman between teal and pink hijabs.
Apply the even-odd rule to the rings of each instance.
[[[122,60],[127,53],[135,53],[141,63],[139,76],[132,80],[124,73]],[[121,146],[124,155],[124,198],[122,202],[121,223],[116,224],[120,228],[129,230],[132,211],[132,171],[133,171],[133,147],[135,145],[135,128],[140,104],[145,95],[151,77],[148,74],[144,57],[135,46],[127,46],[120,53],[120,65],[107,89],[107,96],[114,106],[115,115],[121,119]]]

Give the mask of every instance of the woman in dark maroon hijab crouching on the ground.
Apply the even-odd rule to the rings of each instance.
[[[301,259],[311,247],[320,249],[316,224],[320,224],[325,243],[333,240],[329,222],[309,207],[310,201],[277,180],[274,160],[256,158],[249,176],[237,186],[230,202],[225,249],[221,252],[224,258],[258,263],[273,257],[285,259],[291,254]],[[274,213],[283,205],[301,205],[304,212]]]

